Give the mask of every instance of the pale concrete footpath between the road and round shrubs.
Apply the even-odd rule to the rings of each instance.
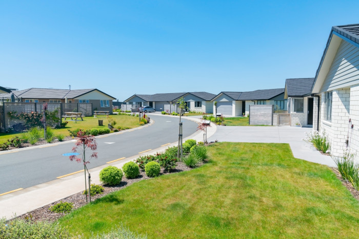
[[[176,116],[164,116],[175,117]],[[200,122],[200,119],[185,117],[185,119]],[[212,136],[216,132],[216,125],[212,123],[212,127],[208,127],[207,135]],[[196,141],[203,141],[203,132],[197,131],[191,136],[184,138],[183,142],[187,139],[195,139]],[[157,152],[164,151],[167,147],[176,146],[178,142],[173,142],[169,145],[146,151],[143,154],[136,154],[132,157],[116,161],[110,164],[98,166],[89,170],[91,173],[91,184],[99,184],[99,172],[109,166],[116,166],[122,168],[122,166],[137,159],[139,156],[156,154]],[[23,150],[26,150],[24,148]],[[69,197],[72,194],[84,190],[84,172],[78,172],[73,175],[69,175],[64,178],[56,179],[47,183],[39,184],[33,187],[25,188],[19,191],[15,191],[9,194],[0,196],[0,218],[11,219],[15,216],[25,214],[37,208],[46,206],[55,201]]]

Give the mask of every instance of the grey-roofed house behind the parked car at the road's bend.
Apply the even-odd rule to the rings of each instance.
[[[177,101],[183,97],[186,102],[186,108],[188,111],[213,113],[213,103],[211,99],[214,94],[207,92],[187,92],[187,93],[164,93],[154,95],[139,95],[135,94],[126,99],[130,105],[139,106],[151,106],[156,111],[164,111],[165,105],[176,104]]]

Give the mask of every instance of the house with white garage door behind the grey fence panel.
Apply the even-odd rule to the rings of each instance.
[[[274,111],[287,111],[287,100],[284,99],[284,88],[256,90],[249,92],[221,92],[211,100],[217,102],[217,112],[224,116],[243,116],[249,114],[251,104],[273,104]]]

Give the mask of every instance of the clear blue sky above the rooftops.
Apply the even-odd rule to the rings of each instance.
[[[133,94],[284,88],[314,77],[359,1],[2,1],[0,86]]]

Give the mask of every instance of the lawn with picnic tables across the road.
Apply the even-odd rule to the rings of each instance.
[[[128,115],[111,115],[110,117],[116,121],[115,127],[121,126],[123,128],[125,127],[134,128],[139,126],[138,117],[132,117]],[[71,121],[71,119],[70,120],[69,119],[66,119],[66,121],[68,121],[69,123],[65,128],[54,129],[55,135],[63,134],[65,136],[68,136],[69,135],[68,129],[73,130],[76,128],[82,128],[82,129],[106,128],[107,124],[109,123],[108,118],[106,117],[93,118],[93,116],[88,116],[88,117],[83,117],[84,121],[82,121],[81,119],[79,121]],[[99,119],[104,120],[103,126],[98,126]],[[11,134],[0,133],[0,143],[3,143],[6,140],[19,135],[20,135],[19,133],[11,133]]]

